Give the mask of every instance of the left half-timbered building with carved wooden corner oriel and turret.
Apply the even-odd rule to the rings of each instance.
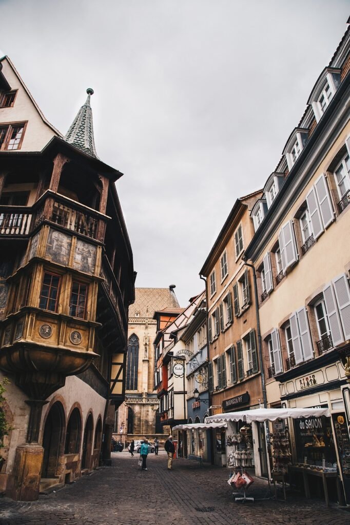
[[[98,159],[87,93],[63,137],[0,60],[0,375],[13,428],[0,486],[16,500],[108,464],[125,394],[132,251],[122,174]]]

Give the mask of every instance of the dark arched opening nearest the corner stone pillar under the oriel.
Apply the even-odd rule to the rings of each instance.
[[[64,437],[65,413],[62,404],[57,401],[50,408],[44,427],[42,478],[58,477],[58,458],[64,451]]]

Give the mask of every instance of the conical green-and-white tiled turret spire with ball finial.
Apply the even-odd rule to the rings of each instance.
[[[88,94],[86,102],[79,109],[76,118],[66,133],[65,139],[69,144],[73,144],[76,148],[79,148],[79,150],[82,150],[98,159],[95,148],[94,127],[92,125],[92,111],[90,106],[90,96],[94,95],[94,90],[88,88],[86,92]]]

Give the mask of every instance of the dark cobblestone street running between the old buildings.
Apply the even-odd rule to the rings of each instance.
[[[1,525],[345,525],[350,513],[287,493],[287,501],[270,498],[267,484],[256,480],[250,488],[255,501],[234,502],[227,484],[228,470],[166,455],[148,456],[148,471],[140,470],[138,455],[112,454],[112,467],[100,468],[76,483],[40,496],[38,501],[0,499]],[[277,497],[282,493],[277,493]]]

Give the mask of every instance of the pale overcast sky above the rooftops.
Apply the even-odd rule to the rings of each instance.
[[[263,187],[346,30],[337,0],[0,0],[0,48],[66,133],[92,87],[136,286],[181,306],[237,197]]]

